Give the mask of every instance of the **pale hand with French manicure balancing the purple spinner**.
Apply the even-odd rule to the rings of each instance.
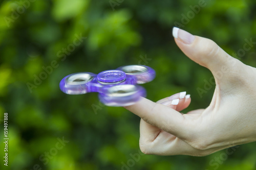
[[[176,100],[172,96],[154,103],[142,98],[126,106],[141,117],[141,151],[205,156],[256,141],[256,68],[232,58],[212,40],[178,28],[174,28],[173,35],[187,57],[212,72],[216,89],[206,109],[187,114],[179,112],[190,103],[184,93],[176,94]]]

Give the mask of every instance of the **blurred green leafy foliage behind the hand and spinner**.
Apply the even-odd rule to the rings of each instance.
[[[255,1],[205,3],[182,28],[216,41],[230,55],[236,54],[245,39],[256,33]],[[218,166],[213,163],[225,151],[206,157],[141,155],[135,161],[131,155],[140,153],[139,117],[122,107],[100,105],[96,93],[67,95],[59,90],[60,80],[74,72],[98,73],[141,63],[157,72],[153,82],[143,85],[148,99],[157,101],[187,91],[192,102],[184,112],[207,107],[214,86],[202,96],[197,88],[204,88],[211,73],[189,60],[172,37],[174,23],[182,23],[183,15],[199,1],[31,0],[26,11],[13,19],[13,10],[22,4],[0,3],[0,113],[8,112],[10,138],[6,167],[1,116],[0,169],[33,169],[35,164],[38,169],[55,170],[256,168],[255,142],[241,145],[221,158],[225,160]],[[58,57],[75,35],[87,38],[66,59]],[[145,56],[146,62],[142,60]],[[255,67],[255,57],[253,47],[241,60]],[[44,71],[42,66],[54,60],[58,66],[30,92],[27,83],[34,84],[34,76]],[[69,141],[65,147],[48,163],[40,161],[62,137]]]

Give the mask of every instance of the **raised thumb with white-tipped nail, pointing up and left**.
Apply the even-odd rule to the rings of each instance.
[[[194,36],[176,27],[173,29],[173,36],[181,51],[191,60],[208,68],[215,78],[218,78],[222,69],[221,73],[225,75],[242,64],[210,39]]]

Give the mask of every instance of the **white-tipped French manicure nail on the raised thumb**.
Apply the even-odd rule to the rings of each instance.
[[[180,39],[185,44],[191,44],[195,40],[195,36],[177,27],[173,28],[174,38]]]

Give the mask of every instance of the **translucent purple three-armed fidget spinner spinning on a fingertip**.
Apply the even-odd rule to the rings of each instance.
[[[146,90],[137,85],[152,81],[154,69],[144,65],[127,65],[106,70],[98,75],[78,72],[63,78],[59,87],[67,94],[98,92],[100,101],[107,106],[129,106],[136,103]]]

